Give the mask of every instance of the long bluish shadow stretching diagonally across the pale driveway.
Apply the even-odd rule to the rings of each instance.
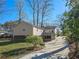
[[[57,49],[57,50],[55,50],[55,51],[53,51],[53,52],[49,52],[49,53],[45,53],[45,54],[42,54],[42,55],[40,55],[40,56],[35,56],[35,57],[32,57],[32,59],[42,59],[42,58],[46,58],[46,57],[49,57],[49,56],[51,56],[51,55],[54,55],[55,53],[58,53],[58,52],[60,52],[60,51],[62,51],[62,50],[64,50],[64,49],[66,49],[68,47],[68,45],[66,45],[66,46],[64,46],[64,47],[62,47],[62,48],[60,48],[60,49]]]

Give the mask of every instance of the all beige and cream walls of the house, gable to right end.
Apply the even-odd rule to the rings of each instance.
[[[26,22],[21,22],[18,24],[14,29],[13,29],[13,34],[14,36],[28,36],[28,35],[37,35],[37,36],[50,36],[51,38],[44,39],[45,41],[50,41],[55,38],[55,33],[54,29],[40,29],[37,27],[33,27],[32,25],[26,23]]]

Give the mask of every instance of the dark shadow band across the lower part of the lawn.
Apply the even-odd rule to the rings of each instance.
[[[27,48],[20,48],[20,49],[15,49],[8,52],[3,52],[1,54],[2,56],[9,57],[9,56],[18,56],[22,54],[28,54],[30,52],[32,52],[32,50],[27,50]]]

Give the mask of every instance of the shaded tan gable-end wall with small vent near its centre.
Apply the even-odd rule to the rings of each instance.
[[[33,30],[33,27],[30,24],[26,22],[21,22],[14,28],[13,34],[14,36],[32,35],[33,34],[32,30]]]

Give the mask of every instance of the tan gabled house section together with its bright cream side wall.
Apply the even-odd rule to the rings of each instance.
[[[43,30],[37,28],[25,21],[21,21],[16,27],[12,29],[14,36],[29,36],[29,35],[42,35]]]

